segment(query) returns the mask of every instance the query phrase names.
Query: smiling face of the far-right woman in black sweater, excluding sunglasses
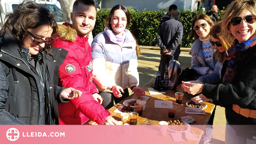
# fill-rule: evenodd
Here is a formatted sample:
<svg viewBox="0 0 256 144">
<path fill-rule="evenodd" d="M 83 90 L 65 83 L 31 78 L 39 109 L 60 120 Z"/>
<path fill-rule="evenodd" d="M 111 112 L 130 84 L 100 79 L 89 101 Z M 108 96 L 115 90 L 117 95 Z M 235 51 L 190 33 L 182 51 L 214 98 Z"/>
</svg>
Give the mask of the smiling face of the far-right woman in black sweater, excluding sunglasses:
<svg viewBox="0 0 256 144">
<path fill-rule="evenodd" d="M 243 12 L 239 16 L 246 15 L 252 15 L 252 13 L 250 13 L 248 10 L 243 10 Z M 247 41 L 253 34 L 255 34 L 256 22 L 250 24 L 245 22 L 243 19 L 239 25 L 230 25 L 229 28 L 232 35 L 239 41 L 239 43 L 241 43 Z"/>
</svg>

